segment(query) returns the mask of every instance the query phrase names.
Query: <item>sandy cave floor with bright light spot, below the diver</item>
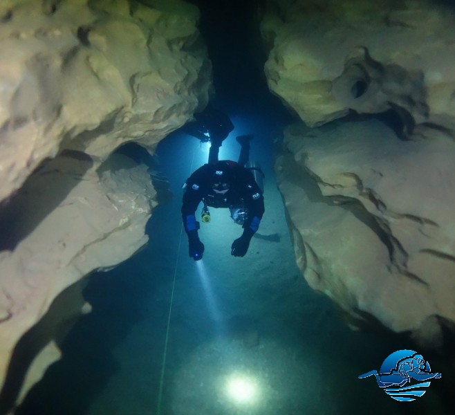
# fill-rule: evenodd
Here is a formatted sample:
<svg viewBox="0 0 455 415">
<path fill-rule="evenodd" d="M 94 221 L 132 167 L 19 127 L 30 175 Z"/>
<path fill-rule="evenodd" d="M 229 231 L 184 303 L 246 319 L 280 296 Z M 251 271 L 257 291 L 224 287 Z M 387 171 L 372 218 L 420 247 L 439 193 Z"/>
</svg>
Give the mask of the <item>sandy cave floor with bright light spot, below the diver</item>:
<svg viewBox="0 0 455 415">
<path fill-rule="evenodd" d="M 310 290 L 295 265 L 275 183 L 266 183 L 265 195 L 262 238 L 252 240 L 244 258 L 229 255 L 230 243 L 241 229 L 225 210 L 212 210 L 212 222 L 201 224 L 209 287 L 205 289 L 200 264 L 187 256 L 185 234 L 176 259 L 180 226 L 159 217 L 173 210 L 178 215 L 180 202 L 172 202 L 166 212 L 156 212 L 159 232 L 169 235 L 169 243 L 163 248 L 160 238 L 152 236 L 147 250 L 161 250 L 153 262 L 160 261 L 163 284 L 149 302 L 145 318 L 113 352 L 120 369 L 94 400 L 90 415 L 425 412 L 423 403 L 411 412 L 410 407 L 400 407 L 374 378 L 358 379 L 366 371 L 379 369 L 400 346 L 351 331 L 331 302 Z M 147 264 L 141 266 L 147 275 Z M 207 290 L 212 297 L 207 297 Z M 230 396 L 228 382 L 234 375 L 253 383 L 251 402 L 239 403 Z M 425 398 L 427 405 L 436 400 Z"/>
</svg>

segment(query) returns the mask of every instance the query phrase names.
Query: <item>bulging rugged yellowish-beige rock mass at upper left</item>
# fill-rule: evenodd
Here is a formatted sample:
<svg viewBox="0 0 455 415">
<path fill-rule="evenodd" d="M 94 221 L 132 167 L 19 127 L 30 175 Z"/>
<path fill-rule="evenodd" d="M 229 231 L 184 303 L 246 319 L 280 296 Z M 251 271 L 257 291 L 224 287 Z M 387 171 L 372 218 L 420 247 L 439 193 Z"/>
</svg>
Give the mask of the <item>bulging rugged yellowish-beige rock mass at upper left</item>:
<svg viewBox="0 0 455 415">
<path fill-rule="evenodd" d="M 105 160 L 156 143 L 207 104 L 198 10 L 180 1 L 0 4 L 0 201 L 62 149 Z"/>
</svg>

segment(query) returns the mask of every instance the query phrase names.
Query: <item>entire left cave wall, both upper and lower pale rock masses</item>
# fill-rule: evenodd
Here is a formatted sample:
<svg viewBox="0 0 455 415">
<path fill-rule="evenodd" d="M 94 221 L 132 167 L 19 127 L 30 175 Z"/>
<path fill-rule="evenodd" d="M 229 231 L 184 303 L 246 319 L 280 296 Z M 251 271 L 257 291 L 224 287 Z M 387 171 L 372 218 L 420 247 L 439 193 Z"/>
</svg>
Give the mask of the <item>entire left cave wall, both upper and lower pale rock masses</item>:
<svg viewBox="0 0 455 415">
<path fill-rule="evenodd" d="M 0 3 L 1 413 L 89 311 L 82 279 L 147 243 L 156 191 L 145 165 L 113 151 L 133 141 L 153 154 L 207 104 L 198 19 L 178 0 Z"/>
</svg>

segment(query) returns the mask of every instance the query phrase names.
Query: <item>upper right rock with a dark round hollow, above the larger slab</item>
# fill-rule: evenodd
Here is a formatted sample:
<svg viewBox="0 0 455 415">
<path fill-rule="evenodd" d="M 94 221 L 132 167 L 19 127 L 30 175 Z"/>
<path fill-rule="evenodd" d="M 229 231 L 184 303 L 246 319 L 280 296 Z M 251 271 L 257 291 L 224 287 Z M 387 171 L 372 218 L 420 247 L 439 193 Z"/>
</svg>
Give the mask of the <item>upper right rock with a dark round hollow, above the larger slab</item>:
<svg viewBox="0 0 455 415">
<path fill-rule="evenodd" d="M 267 3 L 274 93 L 308 126 L 396 111 L 408 138 L 455 136 L 455 10 L 430 0 Z"/>
</svg>

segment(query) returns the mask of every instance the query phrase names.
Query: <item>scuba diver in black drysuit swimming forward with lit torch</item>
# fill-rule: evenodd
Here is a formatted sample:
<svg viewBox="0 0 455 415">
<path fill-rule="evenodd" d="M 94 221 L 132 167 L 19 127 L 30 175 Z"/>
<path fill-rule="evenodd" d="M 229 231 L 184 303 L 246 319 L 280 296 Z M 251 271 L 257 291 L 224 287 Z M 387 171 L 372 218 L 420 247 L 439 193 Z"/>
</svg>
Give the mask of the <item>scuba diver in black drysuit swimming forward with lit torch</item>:
<svg viewBox="0 0 455 415">
<path fill-rule="evenodd" d="M 187 178 L 184 185 L 183 225 L 188 236 L 188 254 L 194 261 L 202 259 L 205 248 L 198 237 L 199 222 L 196 221 L 195 215 L 201 201 L 203 202 L 201 214 L 203 222 L 210 221 L 210 212 L 207 208 L 210 206 L 212 208 L 228 208 L 234 222 L 242 225 L 241 237 L 232 242 L 231 255 L 234 257 L 245 256 L 265 211 L 263 190 L 260 186 L 262 172 L 257 167 L 245 167 L 248 163 L 250 140 L 253 136 L 248 134 L 236 137 L 237 142 L 241 145 L 237 163 L 232 160 L 218 160 L 221 142 L 234 127 L 228 116 L 225 116 L 221 111 L 217 111 L 216 114 L 212 110 L 210 109 L 210 118 L 199 118 L 199 120 L 203 120 L 201 125 L 196 126 L 192 122 L 191 129 L 184 130 L 199 138 L 196 134 L 188 131 L 200 132 L 207 129 L 207 131 L 202 132 L 203 138 L 199 139 L 205 140 L 205 138 L 210 137 L 211 142 L 209 163 L 199 167 Z M 210 119 L 211 123 L 207 123 L 207 119 Z M 212 147 L 214 147 L 214 151 L 212 151 Z"/>
</svg>

